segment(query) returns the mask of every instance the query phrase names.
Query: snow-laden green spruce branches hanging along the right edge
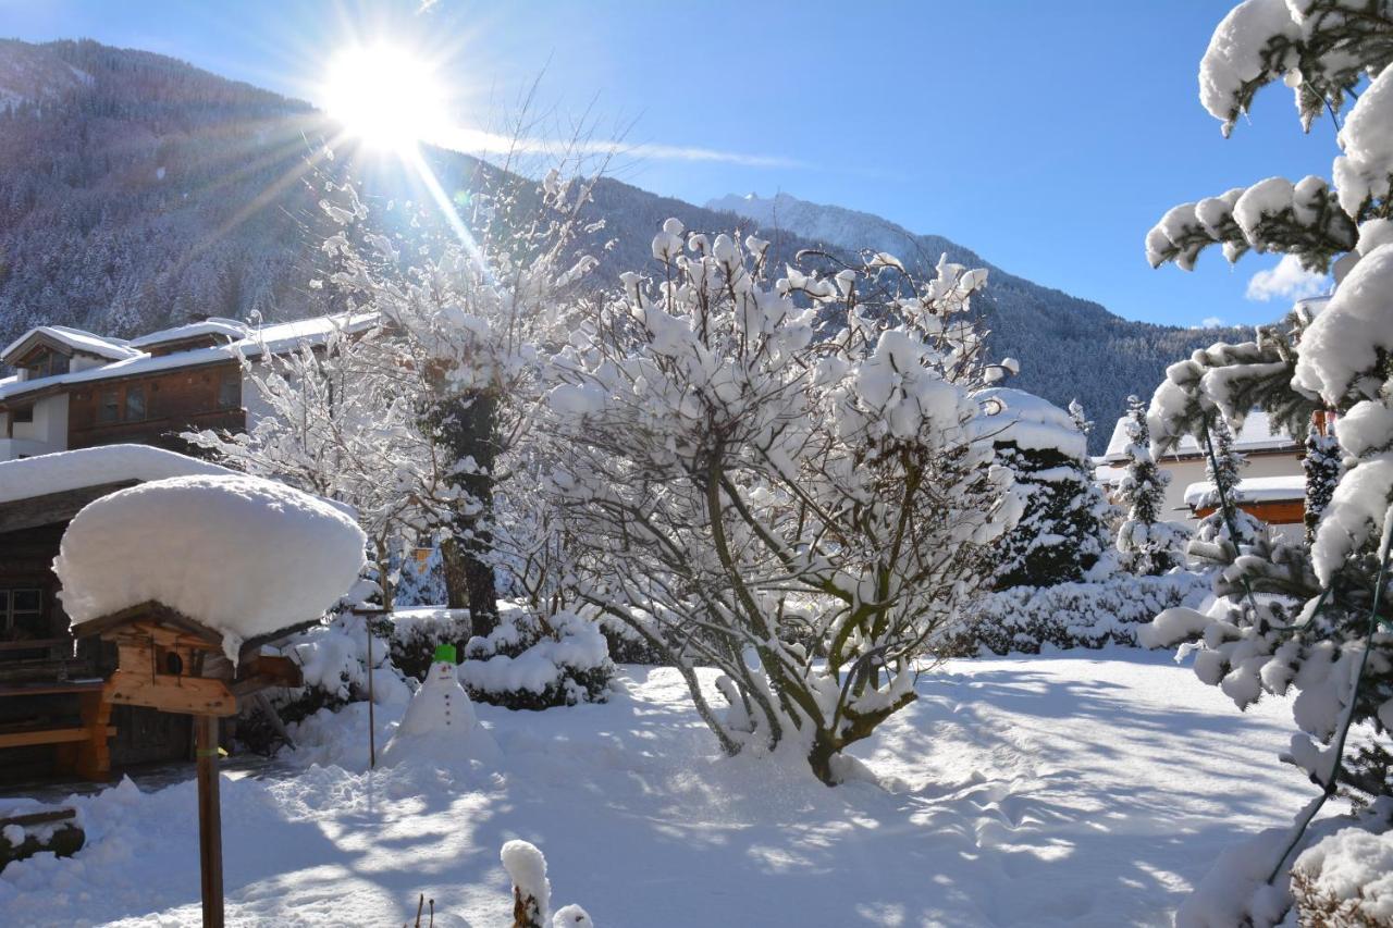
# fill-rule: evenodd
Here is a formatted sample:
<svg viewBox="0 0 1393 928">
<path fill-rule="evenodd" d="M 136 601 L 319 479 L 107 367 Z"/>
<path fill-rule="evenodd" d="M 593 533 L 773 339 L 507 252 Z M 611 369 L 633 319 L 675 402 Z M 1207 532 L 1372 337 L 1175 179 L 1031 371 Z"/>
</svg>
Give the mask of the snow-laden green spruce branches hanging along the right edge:
<svg viewBox="0 0 1393 928">
<path fill-rule="evenodd" d="M 1333 295 L 1298 305 L 1266 344 L 1259 339 L 1251 350 L 1229 351 L 1227 361 L 1197 353 L 1173 365 L 1152 403 L 1153 429 L 1159 424 L 1163 432 L 1185 431 L 1197 415 L 1212 418 L 1215 411 L 1236 425 L 1247 412 L 1240 405 L 1254 401 L 1287 410 L 1279 418 L 1294 438 L 1307 435 L 1312 412 L 1339 415 L 1334 435 L 1346 470 L 1329 499 L 1315 500 L 1321 510 L 1309 553 L 1276 539 L 1226 550 L 1215 587 L 1224 599 L 1209 613 L 1166 610 L 1152 626 L 1156 644 L 1198 642 L 1197 673 L 1240 706 L 1263 693 L 1298 691 L 1293 716 L 1301 732 L 1286 759 L 1322 789 L 1298 821 L 1298 835 L 1336 789 L 1362 798 L 1393 794 L 1393 635 L 1379 630 L 1390 613 L 1376 555 L 1393 531 L 1390 61 L 1387 0 L 1245 0 L 1234 7 L 1201 63 L 1201 100 L 1227 132 L 1254 95 L 1282 78 L 1295 92 L 1304 128 L 1321 111 L 1336 123 L 1333 184 L 1269 178 L 1176 208 L 1146 238 L 1148 258 L 1158 265 L 1191 266 L 1208 238 L 1223 241 L 1230 261 L 1248 249 L 1279 251 L 1334 274 Z M 1329 461 L 1316 464 L 1330 470 Z M 1329 474 L 1312 471 L 1312 479 L 1319 485 Z M 1346 757 L 1351 725 L 1367 740 Z M 1273 875 L 1289 864 L 1277 861 Z M 1245 908 L 1247 917 L 1254 913 Z"/>
</svg>

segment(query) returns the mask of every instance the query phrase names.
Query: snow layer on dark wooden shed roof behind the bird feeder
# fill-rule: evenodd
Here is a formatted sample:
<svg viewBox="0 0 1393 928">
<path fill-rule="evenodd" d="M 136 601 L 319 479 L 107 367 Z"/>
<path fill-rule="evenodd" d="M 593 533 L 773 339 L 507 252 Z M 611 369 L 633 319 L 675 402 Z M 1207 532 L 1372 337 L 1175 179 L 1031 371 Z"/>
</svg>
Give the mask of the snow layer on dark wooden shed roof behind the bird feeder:
<svg viewBox="0 0 1393 928">
<path fill-rule="evenodd" d="M 123 481 L 233 471 L 148 444 L 107 444 L 0 463 L 0 503 Z"/>
</svg>

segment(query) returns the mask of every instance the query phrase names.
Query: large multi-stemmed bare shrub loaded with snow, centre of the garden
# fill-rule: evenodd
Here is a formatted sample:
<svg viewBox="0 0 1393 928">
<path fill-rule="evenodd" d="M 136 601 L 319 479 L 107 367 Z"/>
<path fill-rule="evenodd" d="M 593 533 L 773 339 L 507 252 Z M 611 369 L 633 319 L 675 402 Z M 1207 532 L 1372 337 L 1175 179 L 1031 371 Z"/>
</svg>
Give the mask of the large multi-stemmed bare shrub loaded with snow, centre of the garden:
<svg viewBox="0 0 1393 928">
<path fill-rule="evenodd" d="M 579 598 L 681 670 L 722 748 L 798 752 L 834 783 L 915 698 L 1020 500 L 971 425 L 1000 373 L 964 312 L 985 270 L 944 259 L 921 283 L 873 255 L 769 280 L 766 248 L 663 224 L 657 280 L 624 274 L 554 359 L 545 489 Z M 790 601 L 815 649 L 780 638 Z"/>
</svg>

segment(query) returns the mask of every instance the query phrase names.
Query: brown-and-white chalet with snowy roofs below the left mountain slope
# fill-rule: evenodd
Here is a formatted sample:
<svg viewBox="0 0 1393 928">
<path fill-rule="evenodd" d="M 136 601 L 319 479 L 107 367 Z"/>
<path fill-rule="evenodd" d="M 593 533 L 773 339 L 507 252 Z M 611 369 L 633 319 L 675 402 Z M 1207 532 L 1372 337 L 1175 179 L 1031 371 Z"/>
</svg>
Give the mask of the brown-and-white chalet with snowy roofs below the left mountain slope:
<svg viewBox="0 0 1393 928">
<path fill-rule="evenodd" d="M 39 326 L 0 351 L 0 461 L 99 444 L 187 450 L 189 429 L 244 431 L 256 397 L 242 358 L 322 344 L 371 315 L 319 316 L 256 329 L 205 319 L 134 340 Z"/>
</svg>

